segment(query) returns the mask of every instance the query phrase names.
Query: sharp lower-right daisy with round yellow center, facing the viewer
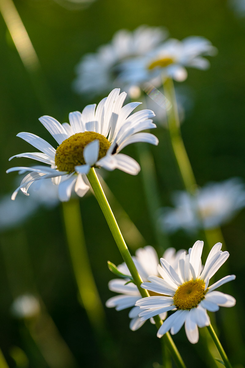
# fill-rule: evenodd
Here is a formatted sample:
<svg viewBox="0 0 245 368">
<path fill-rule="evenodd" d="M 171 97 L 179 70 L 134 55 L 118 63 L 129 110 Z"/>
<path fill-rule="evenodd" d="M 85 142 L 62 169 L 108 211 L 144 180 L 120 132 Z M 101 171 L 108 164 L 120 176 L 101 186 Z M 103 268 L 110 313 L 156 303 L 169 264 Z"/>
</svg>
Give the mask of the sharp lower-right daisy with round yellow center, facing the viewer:
<svg viewBox="0 0 245 368">
<path fill-rule="evenodd" d="M 140 299 L 136 306 L 142 312 L 140 321 L 144 322 L 159 313 L 177 311 L 170 315 L 159 328 L 157 336 L 162 337 L 170 330 L 172 335 L 179 332 L 185 324 L 188 340 L 198 342 L 198 327 L 209 326 L 210 319 L 207 310 L 216 312 L 219 307 L 233 307 L 235 299 L 227 294 L 215 291 L 217 287 L 234 280 L 235 275 L 225 276 L 223 279 L 209 286 L 209 280 L 217 272 L 229 256 L 228 252 L 221 251 L 221 243 L 213 246 L 201 272 L 201 255 L 203 241 L 196 241 L 188 254 L 183 253 L 179 258 L 177 271 L 172 268 L 166 259 L 161 258 L 158 272 L 161 277 L 152 282 L 145 282 L 141 287 L 164 296 L 152 296 Z"/>
</svg>

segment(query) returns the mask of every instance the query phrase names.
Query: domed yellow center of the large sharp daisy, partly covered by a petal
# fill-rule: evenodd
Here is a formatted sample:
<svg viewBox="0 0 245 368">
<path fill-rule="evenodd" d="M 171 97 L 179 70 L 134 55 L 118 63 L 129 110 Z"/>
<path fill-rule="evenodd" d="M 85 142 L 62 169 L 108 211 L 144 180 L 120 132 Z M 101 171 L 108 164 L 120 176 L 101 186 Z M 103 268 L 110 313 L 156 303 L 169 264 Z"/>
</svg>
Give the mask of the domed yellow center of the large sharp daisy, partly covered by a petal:
<svg viewBox="0 0 245 368">
<path fill-rule="evenodd" d="M 65 139 L 58 146 L 55 153 L 55 165 L 57 166 L 57 169 L 72 173 L 75 171 L 76 165 L 84 165 L 84 147 L 95 139 L 98 139 L 100 142 L 98 160 L 104 157 L 110 146 L 110 142 L 104 137 L 104 135 L 96 132 L 76 133 Z"/>
</svg>

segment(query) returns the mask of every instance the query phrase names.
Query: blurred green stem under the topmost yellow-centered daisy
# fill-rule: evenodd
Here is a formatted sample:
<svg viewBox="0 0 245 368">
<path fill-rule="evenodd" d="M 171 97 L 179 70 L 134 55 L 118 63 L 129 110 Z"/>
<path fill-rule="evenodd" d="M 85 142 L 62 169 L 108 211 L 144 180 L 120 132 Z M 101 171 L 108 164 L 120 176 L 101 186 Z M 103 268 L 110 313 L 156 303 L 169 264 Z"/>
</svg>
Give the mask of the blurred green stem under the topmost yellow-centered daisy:
<svg viewBox="0 0 245 368">
<path fill-rule="evenodd" d="M 195 193 L 197 183 L 192 171 L 191 163 L 185 150 L 184 142 L 181 137 L 180 120 L 178 107 L 174 91 L 174 84 L 171 78 L 167 78 L 163 82 L 163 89 L 166 98 L 171 102 L 172 106 L 167 110 L 167 119 L 169 124 L 169 134 L 171 143 L 176 157 L 184 186 L 191 194 Z"/>
</svg>

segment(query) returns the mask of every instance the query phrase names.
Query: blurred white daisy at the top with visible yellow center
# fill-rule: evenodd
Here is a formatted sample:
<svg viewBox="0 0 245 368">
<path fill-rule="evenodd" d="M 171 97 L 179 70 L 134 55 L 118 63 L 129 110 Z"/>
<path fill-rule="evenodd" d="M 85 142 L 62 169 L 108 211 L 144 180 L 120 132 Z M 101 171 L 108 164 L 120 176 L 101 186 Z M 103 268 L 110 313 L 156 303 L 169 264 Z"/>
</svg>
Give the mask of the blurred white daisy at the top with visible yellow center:
<svg viewBox="0 0 245 368">
<path fill-rule="evenodd" d="M 182 41 L 169 39 L 147 55 L 126 60 L 121 66 L 119 80 L 143 88 L 148 82 L 157 87 L 168 77 L 183 82 L 187 78 L 185 67 L 207 69 L 210 64 L 203 56 L 216 52 L 204 37 L 190 36 Z"/>
</svg>

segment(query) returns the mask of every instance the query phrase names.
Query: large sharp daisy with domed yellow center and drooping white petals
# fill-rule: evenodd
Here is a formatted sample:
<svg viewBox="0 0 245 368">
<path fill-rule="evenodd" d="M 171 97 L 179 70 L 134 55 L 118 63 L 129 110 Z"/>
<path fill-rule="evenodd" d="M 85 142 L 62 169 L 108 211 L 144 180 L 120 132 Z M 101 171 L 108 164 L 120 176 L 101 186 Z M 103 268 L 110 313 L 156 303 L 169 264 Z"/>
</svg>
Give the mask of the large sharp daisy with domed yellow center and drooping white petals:
<svg viewBox="0 0 245 368">
<path fill-rule="evenodd" d="M 49 164 L 50 166 L 12 167 L 7 173 L 30 171 L 21 185 L 12 194 L 15 199 L 21 190 L 28 194 L 29 186 L 40 178 L 53 178 L 58 184 L 58 196 L 61 201 L 68 201 L 75 187 L 76 194 L 83 197 L 89 190 L 84 183 L 83 174 L 89 173 L 91 167 L 103 167 L 112 171 L 120 169 L 136 175 L 140 171 L 139 164 L 131 157 L 119 153 L 125 146 L 135 142 L 158 144 L 158 139 L 150 133 L 140 131 L 155 128 L 151 110 L 141 110 L 132 115 L 131 112 L 140 102 L 128 103 L 123 106 L 126 93 L 114 89 L 107 98 L 96 104 L 86 106 L 82 113 L 75 111 L 69 114 L 69 122 L 60 124 L 51 116 L 40 117 L 40 122 L 58 143 L 53 148 L 44 139 L 32 133 L 17 134 L 41 152 L 26 152 L 14 157 L 26 157 Z M 130 115 L 130 116 L 129 116 Z"/>
</svg>

